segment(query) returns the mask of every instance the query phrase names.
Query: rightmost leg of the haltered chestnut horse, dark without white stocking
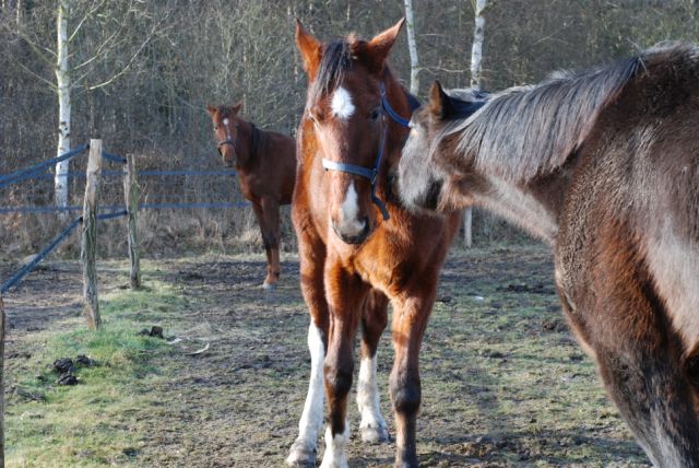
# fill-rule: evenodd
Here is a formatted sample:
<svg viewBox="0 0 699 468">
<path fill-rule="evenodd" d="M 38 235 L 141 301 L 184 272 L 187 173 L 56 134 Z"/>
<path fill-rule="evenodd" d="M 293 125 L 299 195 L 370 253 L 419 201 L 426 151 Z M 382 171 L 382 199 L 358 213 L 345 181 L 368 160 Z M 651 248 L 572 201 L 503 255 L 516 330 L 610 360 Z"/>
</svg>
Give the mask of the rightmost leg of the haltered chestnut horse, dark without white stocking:
<svg viewBox="0 0 699 468">
<path fill-rule="evenodd" d="M 429 284 L 429 281 L 426 283 Z M 415 430 L 422 396 L 419 349 L 434 301 L 435 288 L 407 294 L 393 303 L 395 358 L 390 390 L 396 426 L 395 466 L 401 468 L 418 466 Z"/>
</svg>

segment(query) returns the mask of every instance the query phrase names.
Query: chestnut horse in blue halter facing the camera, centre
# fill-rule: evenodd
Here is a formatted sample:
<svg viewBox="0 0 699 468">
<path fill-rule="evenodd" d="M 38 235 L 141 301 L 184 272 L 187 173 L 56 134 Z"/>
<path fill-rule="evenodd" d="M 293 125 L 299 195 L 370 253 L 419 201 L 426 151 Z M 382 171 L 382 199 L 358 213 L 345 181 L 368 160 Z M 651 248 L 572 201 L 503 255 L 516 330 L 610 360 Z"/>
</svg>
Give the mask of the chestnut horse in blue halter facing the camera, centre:
<svg viewBox="0 0 699 468">
<path fill-rule="evenodd" d="M 402 24 L 371 40 L 348 36 L 330 44 L 297 25 L 296 39 L 310 84 L 298 131 L 292 217 L 301 290 L 311 316 L 312 371 L 300 434 L 287 459 L 292 465 L 315 463 L 324 376 L 330 416 L 322 466 L 346 466 L 347 394 L 359 326 L 362 436 L 387 438 L 376 390 L 376 349 L 387 325 L 389 301 L 395 348 L 390 394 L 396 419 L 396 465 L 417 465 L 418 352 L 459 215 L 414 215 L 390 189 L 388 168 L 398 164 L 407 134 L 401 124 L 407 125 L 403 117 L 416 104 L 386 63 Z"/>
</svg>

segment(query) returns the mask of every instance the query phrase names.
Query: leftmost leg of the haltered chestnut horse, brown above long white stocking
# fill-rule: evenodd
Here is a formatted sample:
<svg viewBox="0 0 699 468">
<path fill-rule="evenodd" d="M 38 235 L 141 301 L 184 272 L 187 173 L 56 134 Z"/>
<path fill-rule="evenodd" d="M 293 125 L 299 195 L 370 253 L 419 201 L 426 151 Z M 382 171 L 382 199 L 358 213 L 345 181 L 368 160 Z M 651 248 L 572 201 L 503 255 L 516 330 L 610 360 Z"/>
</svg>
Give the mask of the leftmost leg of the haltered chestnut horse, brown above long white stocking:
<svg viewBox="0 0 699 468">
<path fill-rule="evenodd" d="M 318 434 L 323 423 L 323 359 L 328 337 L 328 304 L 323 286 L 324 246 L 309 233 L 299 235 L 300 283 L 310 314 L 308 349 L 310 381 L 304 412 L 298 421 L 298 437 L 289 449 L 286 463 L 296 467 L 315 467 Z"/>
</svg>

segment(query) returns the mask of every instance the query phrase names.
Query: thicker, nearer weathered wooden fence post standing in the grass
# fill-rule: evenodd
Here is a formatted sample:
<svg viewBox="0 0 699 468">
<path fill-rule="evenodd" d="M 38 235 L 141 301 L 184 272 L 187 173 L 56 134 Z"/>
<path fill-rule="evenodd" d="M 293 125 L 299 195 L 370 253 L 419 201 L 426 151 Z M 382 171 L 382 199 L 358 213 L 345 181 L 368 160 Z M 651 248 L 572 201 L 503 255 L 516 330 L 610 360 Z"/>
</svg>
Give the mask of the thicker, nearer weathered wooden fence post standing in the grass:
<svg viewBox="0 0 699 468">
<path fill-rule="evenodd" d="M 97 303 L 97 203 L 99 201 L 99 178 L 102 176 L 102 140 L 90 140 L 87 160 L 87 183 L 83 203 L 83 231 L 80 260 L 83 267 L 83 293 L 85 295 L 85 320 L 87 328 L 99 328 L 99 305 Z"/>
</svg>

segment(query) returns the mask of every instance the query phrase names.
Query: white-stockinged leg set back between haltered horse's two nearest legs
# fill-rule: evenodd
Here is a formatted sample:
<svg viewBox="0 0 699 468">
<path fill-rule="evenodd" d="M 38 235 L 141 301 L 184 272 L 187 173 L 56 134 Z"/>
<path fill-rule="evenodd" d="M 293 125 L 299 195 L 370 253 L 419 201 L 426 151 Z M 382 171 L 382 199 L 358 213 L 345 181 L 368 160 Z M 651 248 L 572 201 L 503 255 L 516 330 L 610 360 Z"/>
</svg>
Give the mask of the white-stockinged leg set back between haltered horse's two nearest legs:
<svg viewBox="0 0 699 468">
<path fill-rule="evenodd" d="M 362 414 L 362 440 L 369 443 L 387 442 L 389 432 L 381 416 L 379 389 L 376 379 L 377 349 L 388 321 L 388 299 L 374 290 L 367 297 L 362 317 L 362 362 L 357 383 L 357 407 Z"/>
</svg>

